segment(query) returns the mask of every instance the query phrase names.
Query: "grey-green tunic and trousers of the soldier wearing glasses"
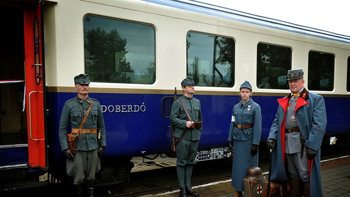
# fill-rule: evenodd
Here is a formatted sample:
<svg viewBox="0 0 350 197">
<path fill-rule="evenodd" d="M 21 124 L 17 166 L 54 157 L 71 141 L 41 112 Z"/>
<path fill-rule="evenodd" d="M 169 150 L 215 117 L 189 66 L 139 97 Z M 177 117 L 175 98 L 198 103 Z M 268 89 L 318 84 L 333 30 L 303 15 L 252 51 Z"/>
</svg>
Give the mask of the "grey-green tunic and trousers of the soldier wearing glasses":
<svg viewBox="0 0 350 197">
<path fill-rule="evenodd" d="M 181 97 L 193 122 L 202 122 L 201 102 L 197 98 Z M 202 128 L 186 128 L 189 121 L 180 100 L 175 100 L 170 113 L 170 121 L 175 126 L 175 142 L 186 129 L 182 140 L 176 145 L 177 177 L 180 187 L 190 186 L 192 166 L 197 155 L 198 140 L 201 138 Z M 203 125 L 202 125 L 203 127 Z"/>
</svg>

